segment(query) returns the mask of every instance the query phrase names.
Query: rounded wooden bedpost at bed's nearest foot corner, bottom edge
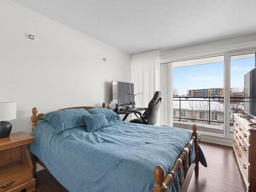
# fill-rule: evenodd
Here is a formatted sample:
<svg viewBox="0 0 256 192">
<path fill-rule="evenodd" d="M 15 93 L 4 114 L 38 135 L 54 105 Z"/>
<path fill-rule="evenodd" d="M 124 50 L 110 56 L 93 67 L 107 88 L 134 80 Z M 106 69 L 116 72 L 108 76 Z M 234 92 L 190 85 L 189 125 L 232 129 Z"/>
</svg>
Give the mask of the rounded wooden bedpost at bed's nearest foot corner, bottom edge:
<svg viewBox="0 0 256 192">
<path fill-rule="evenodd" d="M 161 165 L 157 165 L 154 169 L 154 184 L 153 192 L 167 192 L 167 187 L 164 184 L 164 170 Z"/>
</svg>

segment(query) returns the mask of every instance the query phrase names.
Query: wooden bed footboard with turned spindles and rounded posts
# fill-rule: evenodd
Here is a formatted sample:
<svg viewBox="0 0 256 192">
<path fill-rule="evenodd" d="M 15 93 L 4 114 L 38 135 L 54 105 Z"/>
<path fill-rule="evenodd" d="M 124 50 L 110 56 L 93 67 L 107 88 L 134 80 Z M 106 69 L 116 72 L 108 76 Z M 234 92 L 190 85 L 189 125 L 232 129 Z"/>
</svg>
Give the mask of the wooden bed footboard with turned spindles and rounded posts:
<svg viewBox="0 0 256 192">
<path fill-rule="evenodd" d="M 175 161 L 172 170 L 166 176 L 164 175 L 164 170 L 161 165 L 157 165 L 154 169 L 154 178 L 155 184 L 153 188 L 153 192 L 167 192 L 167 187 L 170 183 L 173 182 L 175 172 L 178 171 L 178 178 L 181 191 L 186 191 L 191 176 L 193 174 L 193 169 L 195 167 L 195 175 L 198 176 L 199 174 L 199 152 L 198 152 L 198 142 L 197 142 L 197 126 L 194 124 L 192 126 L 193 129 L 193 136 L 191 140 L 187 143 L 185 148 L 183 148 L 181 154 L 179 155 L 178 159 Z M 191 161 L 190 156 L 190 148 L 195 143 L 195 152 L 196 152 L 196 159 L 194 162 Z M 189 169 L 187 167 L 187 158 L 189 162 Z M 184 181 L 181 182 L 181 165 L 184 167 Z M 191 169 L 192 168 L 192 169 Z"/>
</svg>

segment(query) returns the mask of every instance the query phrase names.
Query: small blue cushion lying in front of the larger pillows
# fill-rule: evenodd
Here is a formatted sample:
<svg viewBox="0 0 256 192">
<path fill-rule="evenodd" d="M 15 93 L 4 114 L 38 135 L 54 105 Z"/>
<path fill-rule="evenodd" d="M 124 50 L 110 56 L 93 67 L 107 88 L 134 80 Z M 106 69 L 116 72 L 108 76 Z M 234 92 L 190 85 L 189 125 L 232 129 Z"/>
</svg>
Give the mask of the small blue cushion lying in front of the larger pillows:
<svg viewBox="0 0 256 192">
<path fill-rule="evenodd" d="M 84 123 L 86 123 L 87 132 L 94 132 L 103 127 L 108 127 L 109 123 L 106 116 L 102 113 L 94 115 L 83 115 Z"/>
</svg>

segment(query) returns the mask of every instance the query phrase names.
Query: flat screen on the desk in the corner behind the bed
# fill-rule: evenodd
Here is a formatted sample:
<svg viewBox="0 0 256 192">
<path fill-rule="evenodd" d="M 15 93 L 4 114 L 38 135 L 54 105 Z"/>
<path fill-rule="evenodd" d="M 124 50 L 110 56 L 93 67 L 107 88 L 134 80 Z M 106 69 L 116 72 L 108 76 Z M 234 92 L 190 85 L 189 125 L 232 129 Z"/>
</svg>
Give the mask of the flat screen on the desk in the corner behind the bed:
<svg viewBox="0 0 256 192">
<path fill-rule="evenodd" d="M 117 104 L 134 102 L 134 84 L 129 82 L 112 81 L 112 99 Z"/>
</svg>

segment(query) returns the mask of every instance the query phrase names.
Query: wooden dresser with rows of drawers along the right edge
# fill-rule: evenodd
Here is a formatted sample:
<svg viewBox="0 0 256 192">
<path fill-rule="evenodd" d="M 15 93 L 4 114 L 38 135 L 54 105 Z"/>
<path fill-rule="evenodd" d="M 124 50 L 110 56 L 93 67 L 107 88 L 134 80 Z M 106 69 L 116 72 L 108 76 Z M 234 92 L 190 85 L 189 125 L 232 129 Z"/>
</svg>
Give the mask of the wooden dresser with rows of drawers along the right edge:
<svg viewBox="0 0 256 192">
<path fill-rule="evenodd" d="M 241 118 L 233 114 L 233 150 L 239 169 L 249 192 L 256 191 L 256 126 L 251 118 Z"/>
</svg>

